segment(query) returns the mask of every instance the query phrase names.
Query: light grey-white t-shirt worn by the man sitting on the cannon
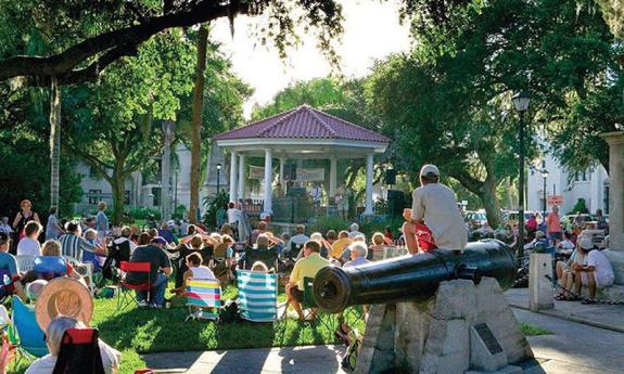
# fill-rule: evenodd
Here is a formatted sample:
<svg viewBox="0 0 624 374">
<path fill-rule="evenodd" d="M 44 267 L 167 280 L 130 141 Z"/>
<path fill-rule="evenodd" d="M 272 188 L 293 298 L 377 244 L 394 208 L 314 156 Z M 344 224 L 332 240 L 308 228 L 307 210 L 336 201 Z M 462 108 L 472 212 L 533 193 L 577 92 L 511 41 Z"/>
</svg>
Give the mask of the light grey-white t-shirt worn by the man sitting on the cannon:
<svg viewBox="0 0 624 374">
<path fill-rule="evenodd" d="M 438 248 L 463 250 L 466 224 L 455 192 L 441 183 L 429 183 L 412 193 L 411 218 L 424 220 Z"/>
</svg>

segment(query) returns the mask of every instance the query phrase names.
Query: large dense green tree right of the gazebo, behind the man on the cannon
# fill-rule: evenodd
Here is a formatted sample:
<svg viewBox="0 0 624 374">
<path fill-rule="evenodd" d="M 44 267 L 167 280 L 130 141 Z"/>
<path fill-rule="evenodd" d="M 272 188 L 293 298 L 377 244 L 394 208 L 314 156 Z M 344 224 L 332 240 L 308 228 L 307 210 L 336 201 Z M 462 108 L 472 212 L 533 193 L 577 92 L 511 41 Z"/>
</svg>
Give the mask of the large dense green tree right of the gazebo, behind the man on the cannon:
<svg viewBox="0 0 624 374">
<path fill-rule="evenodd" d="M 495 225 L 498 181 L 518 172 L 511 94 L 533 96 L 531 159 L 538 129 L 570 126 L 571 99 L 611 85 L 620 47 L 600 14 L 574 0 L 415 0 L 410 12 L 415 49 L 378 66 L 371 105 L 400 134 L 404 166 L 441 164 L 480 196 Z"/>
</svg>

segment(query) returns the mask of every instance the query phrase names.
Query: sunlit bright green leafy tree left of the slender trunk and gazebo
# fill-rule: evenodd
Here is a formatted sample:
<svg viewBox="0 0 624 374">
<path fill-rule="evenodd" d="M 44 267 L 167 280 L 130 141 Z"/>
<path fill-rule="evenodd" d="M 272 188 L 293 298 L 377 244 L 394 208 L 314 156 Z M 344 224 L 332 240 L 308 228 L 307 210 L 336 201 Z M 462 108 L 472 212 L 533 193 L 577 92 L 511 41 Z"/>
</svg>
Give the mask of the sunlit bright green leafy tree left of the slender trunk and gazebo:
<svg viewBox="0 0 624 374">
<path fill-rule="evenodd" d="M 126 179 L 162 151 L 160 120 L 175 120 L 191 91 L 192 44 L 180 30 L 145 43 L 136 59 L 117 62 L 99 83 L 73 88 L 65 105 L 69 152 L 111 183 L 119 222 Z"/>
</svg>

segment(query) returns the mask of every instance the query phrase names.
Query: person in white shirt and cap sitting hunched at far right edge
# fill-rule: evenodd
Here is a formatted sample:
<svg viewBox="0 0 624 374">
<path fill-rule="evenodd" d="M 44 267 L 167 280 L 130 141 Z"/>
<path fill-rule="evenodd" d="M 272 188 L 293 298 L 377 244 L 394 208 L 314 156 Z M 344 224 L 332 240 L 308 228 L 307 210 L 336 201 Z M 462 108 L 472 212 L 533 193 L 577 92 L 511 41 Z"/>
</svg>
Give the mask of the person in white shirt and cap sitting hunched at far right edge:
<svg viewBox="0 0 624 374">
<path fill-rule="evenodd" d="M 583 245 L 578 248 L 581 254 L 587 256 L 587 265 L 577 265 L 574 269 L 576 271 L 574 279 L 576 295 L 581 295 L 581 286 L 585 285 L 589 288 L 589 300 L 583 304 L 596 304 L 596 289 L 612 286 L 615 274 L 602 250 L 586 249 Z"/>
</svg>

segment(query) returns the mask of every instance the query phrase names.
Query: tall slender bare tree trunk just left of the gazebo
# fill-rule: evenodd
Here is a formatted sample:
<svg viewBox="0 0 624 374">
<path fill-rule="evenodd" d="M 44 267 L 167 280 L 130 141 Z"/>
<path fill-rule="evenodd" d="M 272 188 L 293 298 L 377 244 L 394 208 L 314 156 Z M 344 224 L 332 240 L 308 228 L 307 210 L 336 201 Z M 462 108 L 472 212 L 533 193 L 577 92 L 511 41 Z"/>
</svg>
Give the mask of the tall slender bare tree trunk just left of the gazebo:
<svg viewBox="0 0 624 374">
<path fill-rule="evenodd" d="M 206 69 L 206 47 L 208 29 L 200 27 L 198 36 L 198 66 L 195 68 L 195 87 L 193 89 L 193 117 L 191 120 L 191 206 L 189 219 L 196 223 L 200 209 L 200 167 L 202 163 L 202 112 L 204 108 L 204 72 Z"/>
</svg>

